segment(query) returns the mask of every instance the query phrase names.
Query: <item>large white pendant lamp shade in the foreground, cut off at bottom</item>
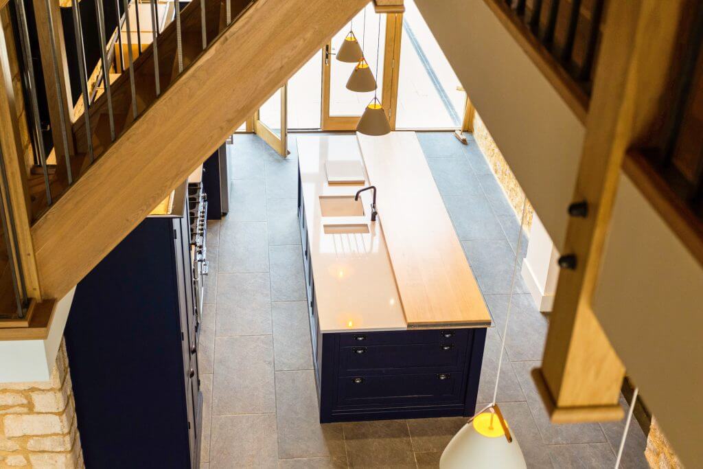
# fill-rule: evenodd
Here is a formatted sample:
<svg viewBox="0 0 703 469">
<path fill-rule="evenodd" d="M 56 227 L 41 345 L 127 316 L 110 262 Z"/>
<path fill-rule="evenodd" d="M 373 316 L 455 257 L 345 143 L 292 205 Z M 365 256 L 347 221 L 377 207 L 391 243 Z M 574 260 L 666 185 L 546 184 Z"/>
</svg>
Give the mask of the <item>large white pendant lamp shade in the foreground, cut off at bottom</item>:
<svg viewBox="0 0 703 469">
<path fill-rule="evenodd" d="M 506 430 L 508 424 L 500 411 L 479 413 L 451 439 L 439 459 L 439 468 L 527 468 L 520 444 L 510 430 Z"/>
</svg>

